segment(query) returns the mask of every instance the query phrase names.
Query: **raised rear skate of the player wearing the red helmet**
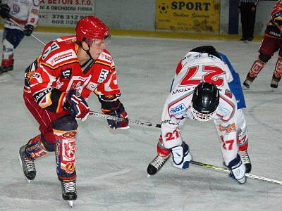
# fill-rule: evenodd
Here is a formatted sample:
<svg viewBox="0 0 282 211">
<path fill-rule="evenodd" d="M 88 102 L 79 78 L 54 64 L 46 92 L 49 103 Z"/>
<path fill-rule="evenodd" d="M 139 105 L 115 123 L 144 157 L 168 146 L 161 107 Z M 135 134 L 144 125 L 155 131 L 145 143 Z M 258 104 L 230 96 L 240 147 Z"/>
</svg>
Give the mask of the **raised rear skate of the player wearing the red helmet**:
<svg viewBox="0 0 282 211">
<path fill-rule="evenodd" d="M 30 183 L 30 180 L 35 179 L 36 176 L 35 160 L 28 155 L 25 155 L 25 147 L 26 145 L 20 147 L 20 150 L 18 151 L 18 159 L 20 160 L 23 174 L 25 174 L 25 179 Z"/>
</svg>

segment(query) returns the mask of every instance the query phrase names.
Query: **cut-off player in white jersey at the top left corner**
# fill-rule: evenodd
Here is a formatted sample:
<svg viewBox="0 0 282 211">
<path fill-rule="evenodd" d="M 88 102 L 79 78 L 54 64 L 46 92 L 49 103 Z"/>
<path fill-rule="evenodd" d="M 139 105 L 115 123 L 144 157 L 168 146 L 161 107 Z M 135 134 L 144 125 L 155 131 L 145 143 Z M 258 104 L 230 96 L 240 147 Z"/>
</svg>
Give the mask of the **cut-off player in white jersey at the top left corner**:
<svg viewBox="0 0 282 211">
<path fill-rule="evenodd" d="M 20 44 L 24 36 L 32 34 L 38 21 L 39 0 L 7 0 L 4 4 L 0 4 L 0 15 L 6 19 L 3 32 L 1 74 L 13 70 L 14 49 Z"/>
</svg>

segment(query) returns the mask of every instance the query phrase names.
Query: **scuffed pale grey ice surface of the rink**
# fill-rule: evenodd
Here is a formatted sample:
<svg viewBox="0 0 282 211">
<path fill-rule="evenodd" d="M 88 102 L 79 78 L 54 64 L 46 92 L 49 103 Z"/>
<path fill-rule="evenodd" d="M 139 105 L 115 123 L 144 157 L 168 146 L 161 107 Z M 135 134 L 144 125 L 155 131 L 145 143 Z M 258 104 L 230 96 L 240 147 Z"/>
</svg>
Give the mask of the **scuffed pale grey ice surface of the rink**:
<svg viewBox="0 0 282 211">
<path fill-rule="evenodd" d="M 66 34 L 35 33 L 47 43 Z M 200 45 L 214 45 L 228 56 L 245 79 L 257 57 L 259 42 L 204 41 L 113 37 L 109 51 L 118 69 L 121 101 L 133 120 L 159 122 L 178 60 Z M 25 37 L 15 53 L 15 70 L 0 76 L 0 210 L 70 210 L 61 198 L 55 155 L 35 162 L 37 177 L 27 184 L 17 151 L 38 134 L 23 103 L 25 68 L 42 51 Z M 282 179 L 281 86 L 269 87 L 277 54 L 245 91 L 245 116 L 250 132 L 252 174 Z M 100 111 L 96 96 L 89 100 Z M 79 122 L 77 143 L 78 200 L 72 210 L 282 210 L 282 186 L 248 179 L 240 185 L 227 174 L 192 165 L 178 170 L 169 162 L 147 179 L 147 165 L 156 155 L 159 129 L 132 125 L 110 130 L 106 120 Z M 220 142 L 213 122 L 186 121 L 181 130 L 194 160 L 221 165 Z"/>
</svg>

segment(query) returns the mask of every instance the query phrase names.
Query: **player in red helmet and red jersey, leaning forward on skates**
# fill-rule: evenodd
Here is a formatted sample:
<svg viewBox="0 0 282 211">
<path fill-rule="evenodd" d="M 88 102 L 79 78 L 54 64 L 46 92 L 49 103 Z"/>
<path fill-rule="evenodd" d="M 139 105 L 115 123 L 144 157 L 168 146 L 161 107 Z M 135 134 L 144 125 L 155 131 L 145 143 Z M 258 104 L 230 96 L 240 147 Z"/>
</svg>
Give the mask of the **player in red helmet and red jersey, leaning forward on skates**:
<svg viewBox="0 0 282 211">
<path fill-rule="evenodd" d="M 118 97 L 116 67 L 106 41 L 109 28 L 95 16 L 82 18 L 75 27 L 76 36 L 50 41 L 25 70 L 23 98 L 39 123 L 40 134 L 19 150 L 27 180 L 35 179 L 37 158 L 55 151 L 56 170 L 63 199 L 75 200 L 75 144 L 78 124 L 90 112 L 87 98 L 94 93 L 102 112 L 122 117 L 108 120 L 112 129 L 128 128 L 128 114 Z"/>
</svg>

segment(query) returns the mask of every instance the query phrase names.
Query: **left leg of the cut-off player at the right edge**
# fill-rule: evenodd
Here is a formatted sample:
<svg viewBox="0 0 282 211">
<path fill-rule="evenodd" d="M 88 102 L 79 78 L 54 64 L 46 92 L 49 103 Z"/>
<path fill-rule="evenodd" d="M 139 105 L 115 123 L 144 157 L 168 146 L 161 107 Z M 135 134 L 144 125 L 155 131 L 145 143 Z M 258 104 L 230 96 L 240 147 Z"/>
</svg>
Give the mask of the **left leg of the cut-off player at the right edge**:
<svg viewBox="0 0 282 211">
<path fill-rule="evenodd" d="M 244 88 L 250 89 L 250 84 L 254 82 L 259 72 L 262 70 L 262 68 L 264 68 L 264 65 L 266 65 L 266 63 L 276 51 L 278 51 L 276 39 L 271 37 L 264 37 L 262 45 L 259 48 L 260 54 L 257 60 L 255 60 L 255 62 L 252 64 L 252 67 L 250 68 L 250 71 L 247 73 L 247 77 L 243 82 Z"/>
</svg>

